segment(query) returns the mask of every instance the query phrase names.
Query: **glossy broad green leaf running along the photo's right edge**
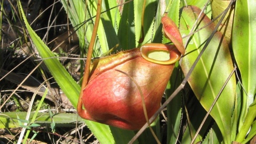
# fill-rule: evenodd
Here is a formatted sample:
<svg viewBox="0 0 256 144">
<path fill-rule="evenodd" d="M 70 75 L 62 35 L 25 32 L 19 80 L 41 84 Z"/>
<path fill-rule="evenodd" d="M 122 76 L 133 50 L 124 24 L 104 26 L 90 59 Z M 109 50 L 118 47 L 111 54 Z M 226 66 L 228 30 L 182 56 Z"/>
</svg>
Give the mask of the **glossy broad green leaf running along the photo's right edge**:
<svg viewBox="0 0 256 144">
<path fill-rule="evenodd" d="M 244 88 L 243 97 L 241 100 L 242 111 L 239 119 L 239 134 L 237 135 L 237 142 L 241 142 L 249 130 L 250 126 L 244 126 L 245 122 L 252 123 L 252 120 L 255 118 L 253 117 L 254 114 L 249 115 L 248 111 L 251 103 L 255 101 L 256 93 L 255 6 L 255 1 L 237 0 L 235 7 L 232 45 L 237 66 L 241 72 L 242 85 Z M 254 113 L 256 113 L 255 109 L 252 110 L 254 110 Z M 251 123 L 249 125 L 251 125 Z"/>
</svg>

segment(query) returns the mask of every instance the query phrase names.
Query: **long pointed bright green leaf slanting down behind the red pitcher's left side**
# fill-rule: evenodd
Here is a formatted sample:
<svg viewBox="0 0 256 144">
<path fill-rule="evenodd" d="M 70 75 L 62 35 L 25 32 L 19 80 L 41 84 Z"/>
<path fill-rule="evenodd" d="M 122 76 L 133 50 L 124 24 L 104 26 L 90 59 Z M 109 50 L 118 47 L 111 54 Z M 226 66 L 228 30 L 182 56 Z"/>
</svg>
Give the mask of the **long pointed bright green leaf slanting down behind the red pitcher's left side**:
<svg viewBox="0 0 256 144">
<path fill-rule="evenodd" d="M 23 20 L 25 21 L 26 28 L 28 33 L 37 48 L 39 54 L 42 58 L 51 58 L 54 57 L 54 54 L 49 50 L 49 48 L 43 43 L 43 41 L 36 35 L 35 31 L 29 26 L 29 23 L 25 17 L 25 13 L 22 10 L 20 1 L 19 6 L 21 9 Z M 67 95 L 70 102 L 73 104 L 74 107 L 77 106 L 78 95 L 80 93 L 81 88 L 79 85 L 74 81 L 74 79 L 68 74 L 66 69 L 61 65 L 58 59 L 45 59 L 45 65 L 50 70 L 52 76 L 54 77 L 55 81 L 59 84 L 62 91 Z M 111 135 L 109 126 L 95 123 L 92 121 L 86 121 L 87 126 L 93 132 L 95 137 L 101 142 L 106 143 L 114 143 L 114 139 Z"/>
</svg>

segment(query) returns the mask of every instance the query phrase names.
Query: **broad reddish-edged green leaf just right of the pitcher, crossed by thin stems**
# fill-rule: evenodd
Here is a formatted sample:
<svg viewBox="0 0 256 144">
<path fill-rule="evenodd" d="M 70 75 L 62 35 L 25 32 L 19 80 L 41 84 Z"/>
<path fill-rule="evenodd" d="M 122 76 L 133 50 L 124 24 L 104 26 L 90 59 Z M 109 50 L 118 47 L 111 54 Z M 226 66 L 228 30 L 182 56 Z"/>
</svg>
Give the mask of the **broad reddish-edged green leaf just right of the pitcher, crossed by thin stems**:
<svg viewBox="0 0 256 144">
<path fill-rule="evenodd" d="M 189 34 L 200 12 L 201 10 L 195 6 L 188 6 L 182 9 L 180 19 L 180 32 L 182 36 Z M 210 22 L 211 20 L 202 14 L 195 28 L 197 30 L 209 25 Z M 214 25 L 210 24 L 192 35 L 189 39 L 183 39 L 185 43 L 188 41 L 186 54 L 181 63 L 181 68 L 185 76 L 204 47 L 213 29 Z M 207 45 L 201 59 L 188 79 L 191 89 L 207 111 L 209 111 L 214 99 L 217 97 L 217 94 L 220 92 L 222 85 L 225 84 L 232 70 L 233 62 L 228 45 L 221 33 L 217 32 L 211 39 L 209 45 Z M 236 81 L 233 75 L 210 113 L 218 124 L 225 143 L 231 143 L 231 114 L 234 107 L 235 90 Z"/>
</svg>

